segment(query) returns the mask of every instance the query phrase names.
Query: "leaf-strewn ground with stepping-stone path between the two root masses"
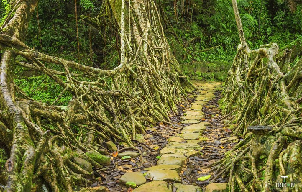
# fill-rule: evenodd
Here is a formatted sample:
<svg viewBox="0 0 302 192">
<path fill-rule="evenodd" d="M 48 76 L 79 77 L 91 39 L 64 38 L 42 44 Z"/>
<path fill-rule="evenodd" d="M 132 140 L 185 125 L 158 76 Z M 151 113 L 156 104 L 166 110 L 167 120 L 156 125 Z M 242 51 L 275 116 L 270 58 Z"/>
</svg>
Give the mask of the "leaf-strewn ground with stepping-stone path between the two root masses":
<svg viewBox="0 0 302 192">
<path fill-rule="evenodd" d="M 117 157 L 111 158 L 109 167 L 95 171 L 99 178 L 92 185 L 123 192 L 133 188 L 135 192 L 202 191 L 209 184 L 209 177 L 213 177 L 203 167 L 222 158 L 242 139 L 231 137 L 231 130 L 218 120 L 221 83 L 193 84 L 198 90 L 187 103 L 180 104 L 177 116 L 170 115 L 171 125 L 147 127 L 145 136 L 133 140 L 143 159 L 139 158 L 139 151 L 120 147 L 118 154 L 112 154 Z M 207 185 L 206 191 L 226 188 L 226 180 L 216 181 L 219 184 Z"/>
</svg>

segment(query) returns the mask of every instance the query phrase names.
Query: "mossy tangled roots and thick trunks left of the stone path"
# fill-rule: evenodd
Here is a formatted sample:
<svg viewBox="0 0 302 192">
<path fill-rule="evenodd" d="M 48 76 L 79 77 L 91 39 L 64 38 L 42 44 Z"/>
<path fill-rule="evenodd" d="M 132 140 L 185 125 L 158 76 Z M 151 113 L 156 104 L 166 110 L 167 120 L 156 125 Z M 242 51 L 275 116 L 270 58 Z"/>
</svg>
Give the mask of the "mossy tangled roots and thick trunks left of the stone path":
<svg viewBox="0 0 302 192">
<path fill-rule="evenodd" d="M 38 1 L 11 1 L 15 12 L 0 34 L 0 142 L 9 157 L 1 170 L 3 190 L 40 191 L 43 183 L 52 191 L 89 186 L 86 179 L 94 175 L 75 164 L 74 157 L 101 168 L 84 152 L 106 154 L 101 144 L 108 140 L 132 146 L 130 139 L 145 133 L 144 125 L 169 123 L 168 112 L 176 113 L 175 103 L 193 89 L 172 55 L 154 1 L 130 2 L 121 1 L 121 14 L 111 7 L 121 29 L 121 63 L 102 70 L 26 46 Z M 48 75 L 62 87 L 59 97 L 48 105 L 27 96 L 14 83 L 15 65 Z M 72 100 L 56 105 L 64 93 Z"/>
</svg>

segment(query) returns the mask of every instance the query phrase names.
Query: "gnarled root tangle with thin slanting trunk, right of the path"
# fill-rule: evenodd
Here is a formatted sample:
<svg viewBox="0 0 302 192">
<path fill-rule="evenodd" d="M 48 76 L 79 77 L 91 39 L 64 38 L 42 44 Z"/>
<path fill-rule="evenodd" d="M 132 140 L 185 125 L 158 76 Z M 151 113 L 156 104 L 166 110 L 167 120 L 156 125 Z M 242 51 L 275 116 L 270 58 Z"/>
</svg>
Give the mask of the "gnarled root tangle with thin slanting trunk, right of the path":
<svg viewBox="0 0 302 192">
<path fill-rule="evenodd" d="M 229 190 L 302 190 L 302 59 L 291 67 L 292 50 L 279 53 L 276 43 L 250 50 L 236 1 L 233 1 L 241 44 L 223 90 L 223 117 L 233 134 L 245 139 L 223 159 L 207 167 L 211 182 L 229 177 Z M 261 126 L 259 126 L 261 125 Z M 278 188 L 281 176 L 295 187 Z"/>
</svg>

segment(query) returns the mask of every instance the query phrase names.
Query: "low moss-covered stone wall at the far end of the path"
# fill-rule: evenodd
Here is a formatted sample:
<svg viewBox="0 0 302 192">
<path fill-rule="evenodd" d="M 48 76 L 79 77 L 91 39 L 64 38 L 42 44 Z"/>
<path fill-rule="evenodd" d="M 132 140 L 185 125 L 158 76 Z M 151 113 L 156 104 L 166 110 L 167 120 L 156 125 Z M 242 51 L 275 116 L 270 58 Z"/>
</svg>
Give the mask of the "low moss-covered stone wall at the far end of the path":
<svg viewBox="0 0 302 192">
<path fill-rule="evenodd" d="M 190 79 L 225 81 L 232 63 L 214 60 L 213 62 L 192 62 L 182 64 L 182 71 Z"/>
</svg>

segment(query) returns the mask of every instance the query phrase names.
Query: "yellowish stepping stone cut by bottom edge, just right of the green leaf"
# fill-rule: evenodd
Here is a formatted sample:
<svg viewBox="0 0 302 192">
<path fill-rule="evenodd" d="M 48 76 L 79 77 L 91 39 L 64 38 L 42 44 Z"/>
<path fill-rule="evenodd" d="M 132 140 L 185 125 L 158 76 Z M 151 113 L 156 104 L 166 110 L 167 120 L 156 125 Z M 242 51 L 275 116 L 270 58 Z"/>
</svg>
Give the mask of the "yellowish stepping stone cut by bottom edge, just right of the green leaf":
<svg viewBox="0 0 302 192">
<path fill-rule="evenodd" d="M 141 185 L 140 187 L 133 190 L 133 192 L 172 192 L 168 187 L 168 183 L 165 181 L 152 181 L 146 184 Z"/>
</svg>

